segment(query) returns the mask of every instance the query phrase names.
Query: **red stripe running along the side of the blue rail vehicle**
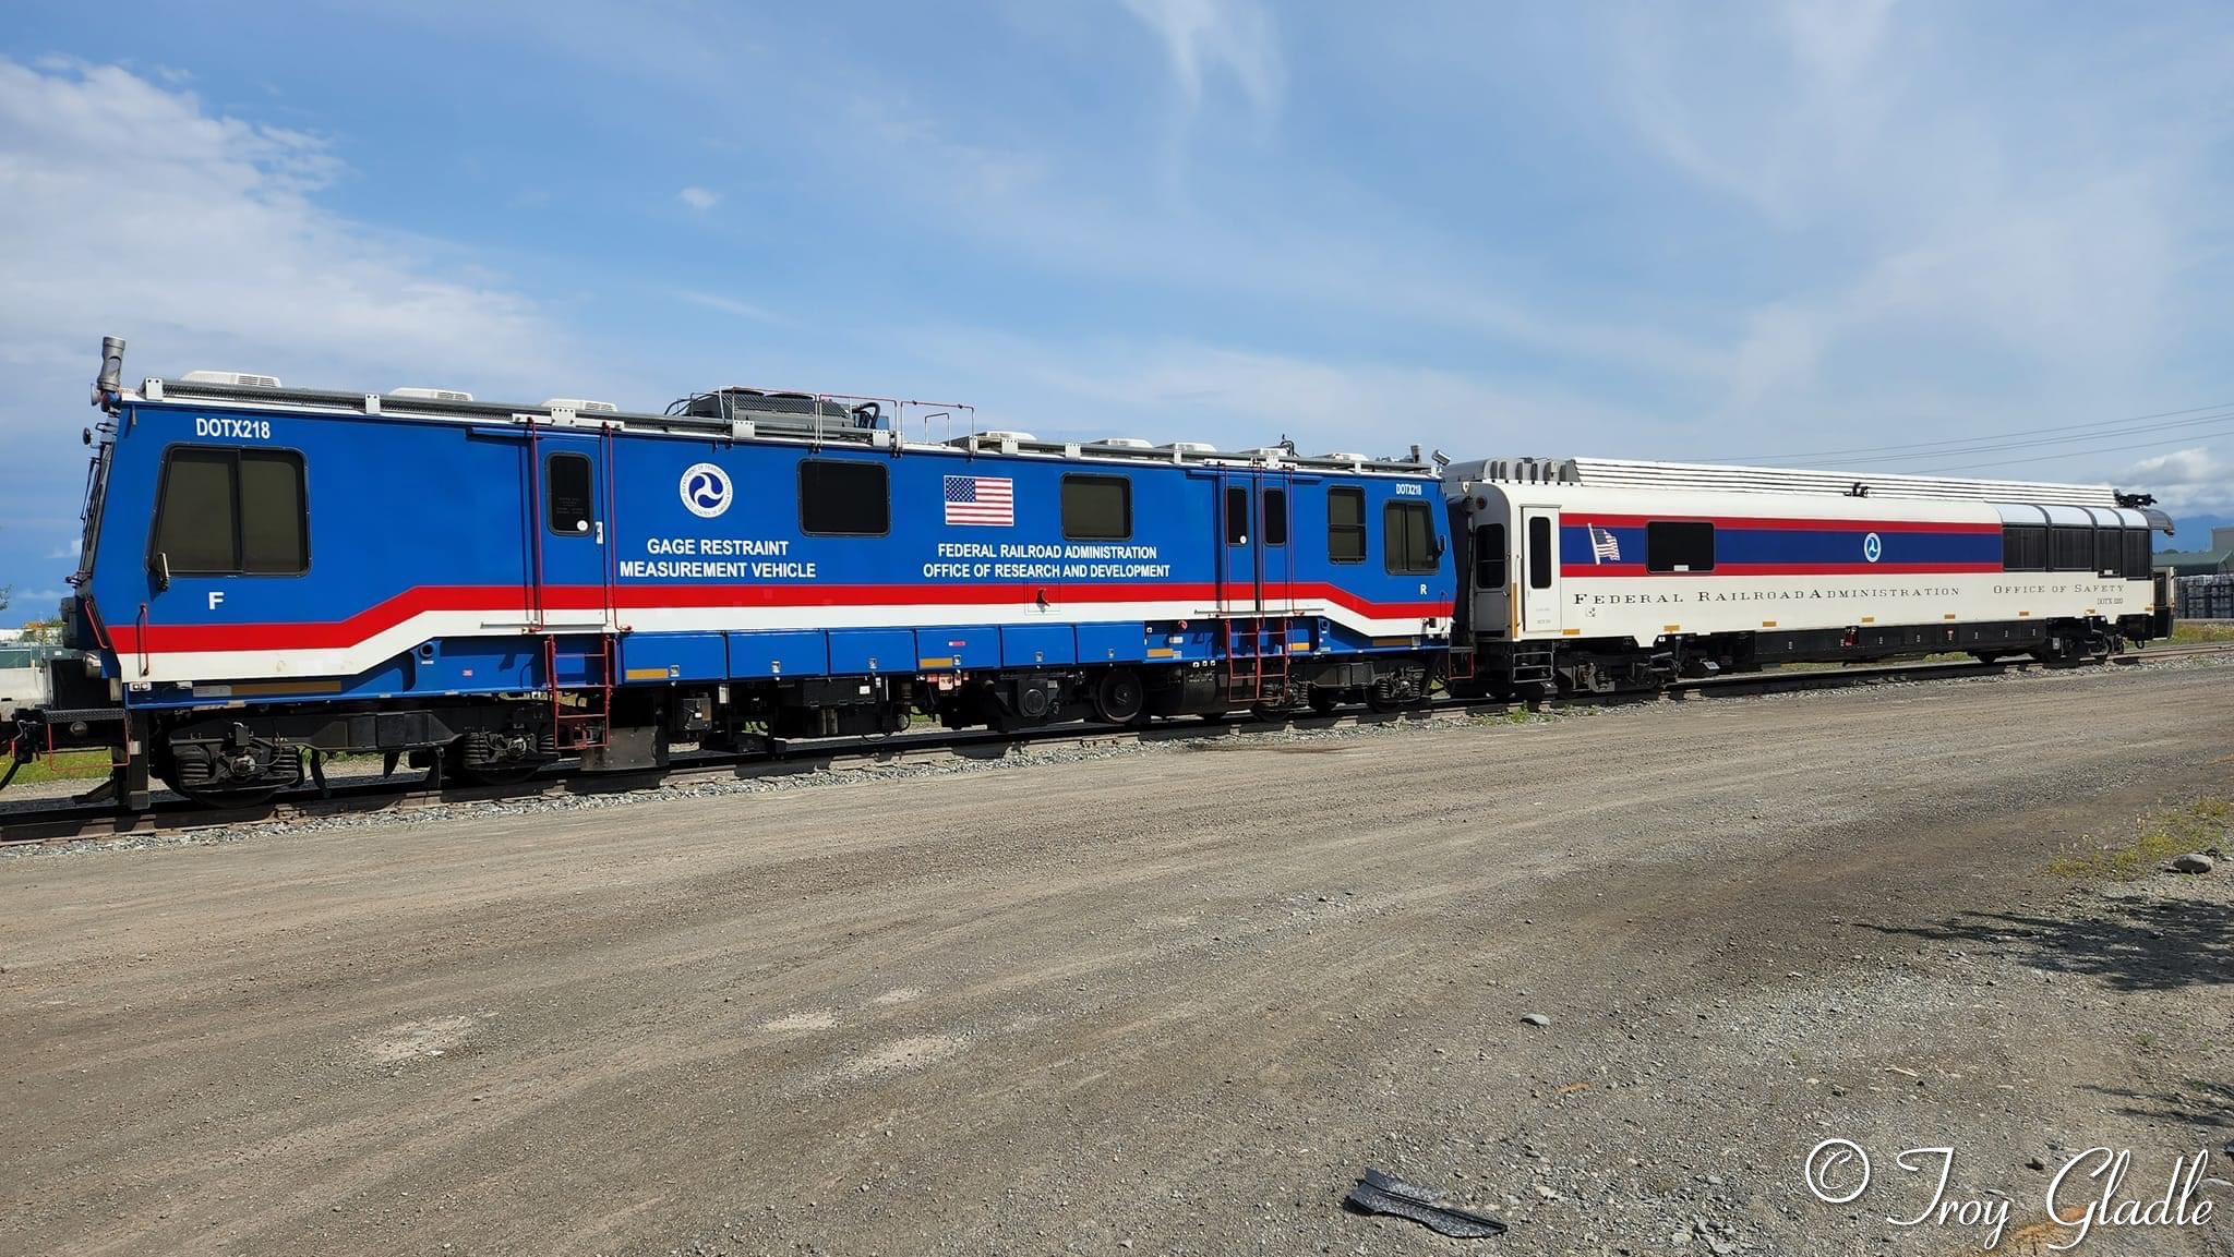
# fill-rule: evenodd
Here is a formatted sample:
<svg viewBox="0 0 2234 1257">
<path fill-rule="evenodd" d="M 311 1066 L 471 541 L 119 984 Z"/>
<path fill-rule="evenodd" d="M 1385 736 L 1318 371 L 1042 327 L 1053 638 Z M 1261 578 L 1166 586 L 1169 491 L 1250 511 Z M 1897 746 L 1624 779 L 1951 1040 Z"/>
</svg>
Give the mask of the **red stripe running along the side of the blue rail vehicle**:
<svg viewBox="0 0 2234 1257">
<path fill-rule="evenodd" d="M 1220 601 L 1215 583 L 1155 585 L 621 585 L 612 592 L 614 607 L 909 607 L 909 605 L 1019 605 L 1046 596 L 1063 603 L 1148 603 Z M 1235 585 L 1231 601 L 1251 598 L 1249 585 Z M 1367 618 L 1441 618 L 1450 603 L 1372 603 L 1325 583 L 1264 585 L 1267 603 L 1325 601 Z M 547 612 L 594 612 L 605 605 L 601 585 L 550 585 L 543 589 Z M 1273 607 L 1278 610 L 1278 607 Z M 185 654 L 208 650 L 342 650 L 373 639 L 424 612 L 503 612 L 529 616 L 527 592 L 518 585 L 420 585 L 366 607 L 346 621 L 328 623 L 259 623 L 259 625 L 147 625 L 145 643 L 136 625 L 114 627 L 118 654 Z M 748 630 L 726 630 L 748 632 Z"/>
</svg>

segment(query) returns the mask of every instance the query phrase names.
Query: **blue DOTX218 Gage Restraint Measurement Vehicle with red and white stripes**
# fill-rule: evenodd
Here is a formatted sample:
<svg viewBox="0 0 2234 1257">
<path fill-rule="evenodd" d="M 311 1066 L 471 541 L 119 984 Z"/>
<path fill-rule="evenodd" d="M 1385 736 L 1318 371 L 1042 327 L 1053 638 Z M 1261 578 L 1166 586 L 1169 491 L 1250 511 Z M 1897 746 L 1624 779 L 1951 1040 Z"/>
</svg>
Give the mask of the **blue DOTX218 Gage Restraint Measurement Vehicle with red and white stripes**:
<svg viewBox="0 0 2234 1257">
<path fill-rule="evenodd" d="M 65 605 L 87 663 L 22 737 L 112 746 L 125 797 L 259 797 L 333 752 L 491 781 L 918 714 L 1390 708 L 1450 641 L 1416 455 L 905 440 L 898 402 L 753 388 L 125 388 L 121 355 Z"/>
</svg>

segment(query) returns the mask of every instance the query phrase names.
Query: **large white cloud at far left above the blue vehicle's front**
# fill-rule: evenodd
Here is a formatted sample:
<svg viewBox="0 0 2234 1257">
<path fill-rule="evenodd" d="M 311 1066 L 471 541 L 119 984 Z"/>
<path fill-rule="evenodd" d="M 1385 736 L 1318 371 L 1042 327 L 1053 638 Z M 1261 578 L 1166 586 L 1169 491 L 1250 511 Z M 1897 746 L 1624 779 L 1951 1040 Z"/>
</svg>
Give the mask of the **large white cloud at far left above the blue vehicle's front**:
<svg viewBox="0 0 2234 1257">
<path fill-rule="evenodd" d="M 529 299 L 442 246 L 322 208 L 342 174 L 317 136 L 125 69 L 0 58 L 0 362 L 83 373 L 103 333 L 165 368 L 371 386 L 550 377 L 570 359 Z"/>
</svg>

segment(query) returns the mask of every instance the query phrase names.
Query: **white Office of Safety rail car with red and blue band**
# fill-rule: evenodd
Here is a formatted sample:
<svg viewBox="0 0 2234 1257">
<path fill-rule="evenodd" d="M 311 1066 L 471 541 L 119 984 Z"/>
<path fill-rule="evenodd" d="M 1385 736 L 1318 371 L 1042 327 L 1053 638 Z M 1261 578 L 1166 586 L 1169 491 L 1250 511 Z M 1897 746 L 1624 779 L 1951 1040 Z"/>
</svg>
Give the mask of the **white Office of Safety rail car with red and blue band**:
<svg viewBox="0 0 2234 1257">
<path fill-rule="evenodd" d="M 1443 484 L 1461 690 L 1935 652 L 2082 661 L 2169 627 L 2149 569 L 2169 520 L 2109 487 L 1584 458 L 1452 464 Z"/>
</svg>

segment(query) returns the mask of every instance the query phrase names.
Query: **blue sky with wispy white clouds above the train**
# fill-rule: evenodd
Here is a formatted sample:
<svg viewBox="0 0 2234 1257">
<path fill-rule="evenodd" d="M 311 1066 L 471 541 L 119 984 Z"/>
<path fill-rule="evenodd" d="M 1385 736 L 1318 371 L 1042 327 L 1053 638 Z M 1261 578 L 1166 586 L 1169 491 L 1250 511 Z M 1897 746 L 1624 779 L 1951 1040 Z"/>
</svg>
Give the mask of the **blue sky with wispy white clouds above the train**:
<svg viewBox="0 0 2234 1257">
<path fill-rule="evenodd" d="M 18 2 L 0 585 L 60 592 L 103 333 L 1229 447 L 1944 442 L 1877 464 L 2225 514 L 2230 65 L 2227 4 Z"/>
</svg>

